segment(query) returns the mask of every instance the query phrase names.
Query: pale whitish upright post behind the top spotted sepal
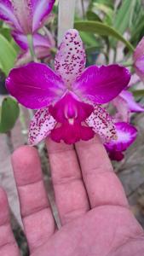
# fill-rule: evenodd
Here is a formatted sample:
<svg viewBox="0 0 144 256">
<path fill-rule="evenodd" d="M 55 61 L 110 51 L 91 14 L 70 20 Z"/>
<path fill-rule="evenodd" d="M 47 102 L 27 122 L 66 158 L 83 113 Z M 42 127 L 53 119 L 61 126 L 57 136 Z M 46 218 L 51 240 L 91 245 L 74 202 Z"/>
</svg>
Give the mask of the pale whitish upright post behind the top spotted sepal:
<svg viewBox="0 0 144 256">
<path fill-rule="evenodd" d="M 65 32 L 73 28 L 75 3 L 76 0 L 59 1 L 58 45 L 60 45 Z"/>
</svg>

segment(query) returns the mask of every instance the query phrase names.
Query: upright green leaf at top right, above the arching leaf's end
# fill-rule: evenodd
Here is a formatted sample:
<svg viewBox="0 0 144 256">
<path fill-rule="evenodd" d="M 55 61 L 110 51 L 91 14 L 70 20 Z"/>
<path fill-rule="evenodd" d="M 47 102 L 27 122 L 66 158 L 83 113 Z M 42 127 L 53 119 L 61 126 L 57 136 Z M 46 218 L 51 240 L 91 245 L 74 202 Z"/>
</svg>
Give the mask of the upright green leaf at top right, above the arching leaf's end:
<svg viewBox="0 0 144 256">
<path fill-rule="evenodd" d="M 113 20 L 113 26 L 118 30 L 118 32 L 123 34 L 130 26 L 134 10 L 135 0 L 122 1 L 122 5 L 118 9 L 118 12 Z"/>
</svg>

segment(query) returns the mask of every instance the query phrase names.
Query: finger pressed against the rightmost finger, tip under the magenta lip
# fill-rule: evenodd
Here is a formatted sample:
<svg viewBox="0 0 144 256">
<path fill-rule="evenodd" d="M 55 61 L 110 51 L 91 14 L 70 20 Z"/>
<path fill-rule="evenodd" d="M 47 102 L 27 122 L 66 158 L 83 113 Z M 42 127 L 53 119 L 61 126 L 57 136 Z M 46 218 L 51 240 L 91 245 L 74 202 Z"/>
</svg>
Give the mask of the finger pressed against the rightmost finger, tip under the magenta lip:
<svg viewBox="0 0 144 256">
<path fill-rule="evenodd" d="M 55 201 L 61 224 L 66 224 L 89 210 L 89 201 L 78 166 L 77 155 L 72 146 L 46 141 Z"/>
</svg>

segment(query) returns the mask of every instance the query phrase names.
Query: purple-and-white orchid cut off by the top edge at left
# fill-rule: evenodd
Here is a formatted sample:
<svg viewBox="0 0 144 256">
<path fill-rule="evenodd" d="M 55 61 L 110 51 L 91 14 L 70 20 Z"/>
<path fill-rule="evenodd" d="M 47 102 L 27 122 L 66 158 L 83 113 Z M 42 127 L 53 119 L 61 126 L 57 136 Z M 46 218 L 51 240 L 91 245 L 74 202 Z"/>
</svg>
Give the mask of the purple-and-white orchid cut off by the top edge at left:
<svg viewBox="0 0 144 256">
<path fill-rule="evenodd" d="M 0 19 L 14 32 L 34 34 L 43 26 L 55 0 L 0 0 Z"/>
</svg>

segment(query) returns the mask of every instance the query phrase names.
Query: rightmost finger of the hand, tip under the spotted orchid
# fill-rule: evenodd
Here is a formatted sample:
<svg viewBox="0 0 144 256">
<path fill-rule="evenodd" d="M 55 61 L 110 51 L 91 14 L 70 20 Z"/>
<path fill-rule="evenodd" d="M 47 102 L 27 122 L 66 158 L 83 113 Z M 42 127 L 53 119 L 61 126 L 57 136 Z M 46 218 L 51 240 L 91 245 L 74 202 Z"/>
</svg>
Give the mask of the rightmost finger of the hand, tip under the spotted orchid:
<svg viewBox="0 0 144 256">
<path fill-rule="evenodd" d="M 99 137 L 76 143 L 91 207 L 101 205 L 128 206 L 124 189 L 112 170 L 111 162 Z"/>
</svg>

